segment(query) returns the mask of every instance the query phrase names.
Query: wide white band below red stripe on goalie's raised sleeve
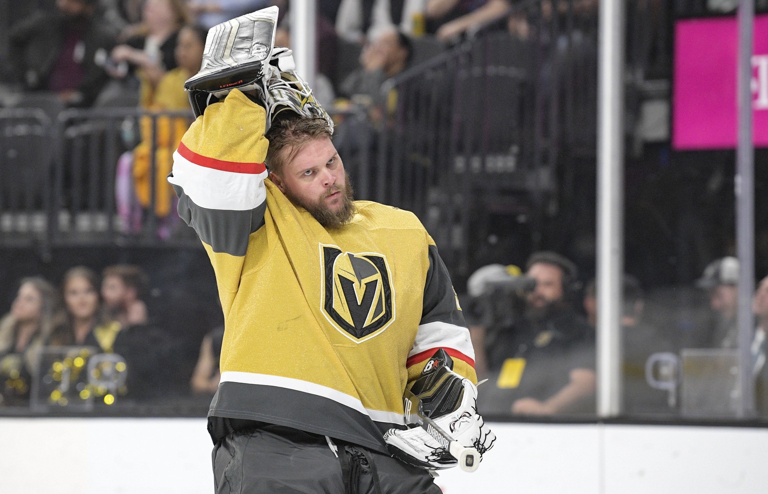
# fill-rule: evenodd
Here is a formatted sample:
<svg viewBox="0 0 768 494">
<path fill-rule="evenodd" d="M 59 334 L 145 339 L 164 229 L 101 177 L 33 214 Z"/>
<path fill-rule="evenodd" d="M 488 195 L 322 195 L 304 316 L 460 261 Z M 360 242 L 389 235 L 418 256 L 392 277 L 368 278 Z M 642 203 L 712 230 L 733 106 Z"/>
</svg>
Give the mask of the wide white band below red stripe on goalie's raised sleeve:
<svg viewBox="0 0 768 494">
<path fill-rule="evenodd" d="M 266 176 L 266 171 L 239 174 L 201 167 L 175 151 L 174 172 L 168 181 L 184 189 L 184 194 L 199 207 L 250 211 L 266 201 Z"/>
</svg>

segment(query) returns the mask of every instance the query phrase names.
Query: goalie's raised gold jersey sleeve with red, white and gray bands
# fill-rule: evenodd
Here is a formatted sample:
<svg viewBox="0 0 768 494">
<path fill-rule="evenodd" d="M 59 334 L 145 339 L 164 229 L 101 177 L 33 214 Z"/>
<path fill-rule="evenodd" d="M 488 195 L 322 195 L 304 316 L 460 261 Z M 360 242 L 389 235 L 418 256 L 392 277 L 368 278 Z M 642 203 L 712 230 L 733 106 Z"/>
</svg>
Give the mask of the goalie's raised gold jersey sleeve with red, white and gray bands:
<svg viewBox="0 0 768 494">
<path fill-rule="evenodd" d="M 184 134 L 168 181 L 179 216 L 200 236 L 213 264 L 222 306 L 234 293 L 250 235 L 264 224 L 266 112 L 237 89 L 210 104 Z"/>
</svg>

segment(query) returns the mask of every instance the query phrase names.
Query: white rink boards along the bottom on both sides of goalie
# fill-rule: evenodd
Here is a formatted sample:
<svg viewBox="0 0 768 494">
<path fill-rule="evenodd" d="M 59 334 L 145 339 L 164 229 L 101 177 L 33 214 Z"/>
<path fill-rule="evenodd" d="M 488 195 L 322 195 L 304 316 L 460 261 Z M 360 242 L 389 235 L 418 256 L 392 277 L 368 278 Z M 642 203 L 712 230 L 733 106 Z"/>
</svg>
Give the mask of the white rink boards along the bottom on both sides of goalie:
<svg viewBox="0 0 768 494">
<path fill-rule="evenodd" d="M 768 429 L 492 423 L 446 494 L 765 494 Z M 210 494 L 204 419 L 0 419 L 2 494 Z"/>
</svg>

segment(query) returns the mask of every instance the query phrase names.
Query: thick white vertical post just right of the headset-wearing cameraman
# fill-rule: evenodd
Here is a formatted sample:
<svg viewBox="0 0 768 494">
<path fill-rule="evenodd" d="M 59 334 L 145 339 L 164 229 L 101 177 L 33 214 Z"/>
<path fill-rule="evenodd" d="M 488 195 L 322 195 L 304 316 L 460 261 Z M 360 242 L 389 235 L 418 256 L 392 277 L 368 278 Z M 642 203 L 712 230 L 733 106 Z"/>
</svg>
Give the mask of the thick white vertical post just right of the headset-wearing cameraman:
<svg viewBox="0 0 768 494">
<path fill-rule="evenodd" d="M 598 58 L 598 416 L 621 412 L 624 271 L 624 0 L 600 2 Z"/>
</svg>

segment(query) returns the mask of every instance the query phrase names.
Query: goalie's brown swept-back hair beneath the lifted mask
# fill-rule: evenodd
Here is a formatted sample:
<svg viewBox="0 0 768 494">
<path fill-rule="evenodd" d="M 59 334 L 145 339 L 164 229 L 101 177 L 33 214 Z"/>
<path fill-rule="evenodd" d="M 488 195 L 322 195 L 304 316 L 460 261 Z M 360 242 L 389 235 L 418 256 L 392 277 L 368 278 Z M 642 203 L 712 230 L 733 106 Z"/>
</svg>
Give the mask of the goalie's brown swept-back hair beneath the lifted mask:
<svg viewBox="0 0 768 494">
<path fill-rule="evenodd" d="M 270 173 L 283 176 L 283 167 L 304 144 L 317 138 L 331 138 L 328 122 L 323 118 L 306 118 L 292 114 L 290 118 L 273 121 L 266 133 L 270 147 L 266 151 L 266 166 Z"/>
</svg>

